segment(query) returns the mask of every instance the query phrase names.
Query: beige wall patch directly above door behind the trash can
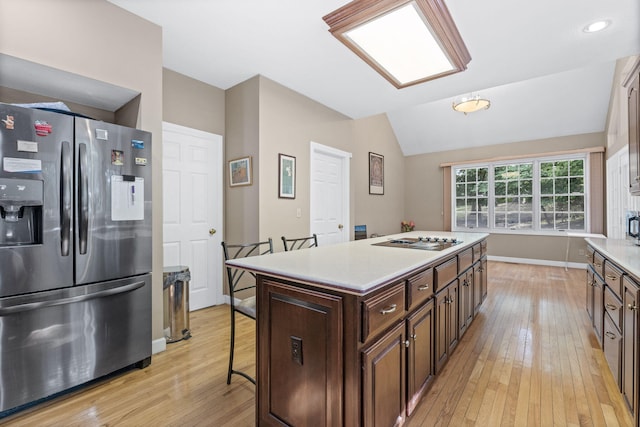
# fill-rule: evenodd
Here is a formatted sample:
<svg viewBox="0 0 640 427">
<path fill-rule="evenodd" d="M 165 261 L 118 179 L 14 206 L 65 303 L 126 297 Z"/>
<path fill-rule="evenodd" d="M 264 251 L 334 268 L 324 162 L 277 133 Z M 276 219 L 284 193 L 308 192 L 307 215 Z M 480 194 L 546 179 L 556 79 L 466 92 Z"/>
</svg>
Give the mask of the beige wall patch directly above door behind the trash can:
<svg viewBox="0 0 640 427">
<path fill-rule="evenodd" d="M 162 119 L 224 136 L 225 91 L 164 68 Z"/>
</svg>

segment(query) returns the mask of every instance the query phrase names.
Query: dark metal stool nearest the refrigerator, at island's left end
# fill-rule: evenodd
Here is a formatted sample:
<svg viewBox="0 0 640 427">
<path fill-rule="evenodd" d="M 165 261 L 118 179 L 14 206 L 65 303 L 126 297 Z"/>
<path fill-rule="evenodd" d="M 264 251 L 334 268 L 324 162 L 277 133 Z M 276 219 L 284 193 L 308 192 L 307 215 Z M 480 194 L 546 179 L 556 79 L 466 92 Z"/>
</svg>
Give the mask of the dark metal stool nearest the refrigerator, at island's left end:
<svg viewBox="0 0 640 427">
<path fill-rule="evenodd" d="M 250 256 L 259 256 L 273 253 L 273 241 L 271 238 L 264 242 L 229 244 L 222 242 L 225 261 Z M 229 304 L 231 306 L 231 342 L 229 348 L 229 370 L 227 371 L 227 384 L 231 384 L 231 375 L 237 374 L 245 377 L 252 383 L 256 380 L 242 371 L 233 369 L 233 350 L 236 338 L 236 312 L 256 320 L 256 296 L 240 299 L 236 293 L 255 289 L 256 275 L 250 271 L 242 270 L 225 264 L 227 269 L 227 281 L 229 284 Z M 245 275 L 248 273 L 248 275 Z"/>
</svg>

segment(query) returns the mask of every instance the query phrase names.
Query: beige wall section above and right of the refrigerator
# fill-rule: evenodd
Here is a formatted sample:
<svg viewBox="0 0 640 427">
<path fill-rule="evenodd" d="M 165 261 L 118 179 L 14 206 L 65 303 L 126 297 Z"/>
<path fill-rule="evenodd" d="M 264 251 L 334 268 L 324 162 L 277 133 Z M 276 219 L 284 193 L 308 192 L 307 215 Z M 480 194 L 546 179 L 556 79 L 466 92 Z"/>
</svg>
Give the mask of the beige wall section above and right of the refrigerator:
<svg viewBox="0 0 640 427">
<path fill-rule="evenodd" d="M 0 0 L 0 53 L 142 94 L 162 182 L 162 29 L 104 0 Z M 162 186 L 153 186 L 153 338 L 162 332 Z M 159 238 L 155 238 L 159 236 Z"/>
</svg>

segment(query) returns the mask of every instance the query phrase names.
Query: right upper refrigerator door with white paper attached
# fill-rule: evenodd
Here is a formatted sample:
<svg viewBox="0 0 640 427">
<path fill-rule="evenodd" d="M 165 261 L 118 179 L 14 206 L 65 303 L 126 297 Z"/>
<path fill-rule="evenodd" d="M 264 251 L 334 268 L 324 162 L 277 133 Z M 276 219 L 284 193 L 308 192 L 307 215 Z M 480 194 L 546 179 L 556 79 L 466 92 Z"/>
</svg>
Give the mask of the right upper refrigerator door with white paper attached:
<svg viewBox="0 0 640 427">
<path fill-rule="evenodd" d="M 75 122 L 76 284 L 151 271 L 151 134 Z"/>
</svg>

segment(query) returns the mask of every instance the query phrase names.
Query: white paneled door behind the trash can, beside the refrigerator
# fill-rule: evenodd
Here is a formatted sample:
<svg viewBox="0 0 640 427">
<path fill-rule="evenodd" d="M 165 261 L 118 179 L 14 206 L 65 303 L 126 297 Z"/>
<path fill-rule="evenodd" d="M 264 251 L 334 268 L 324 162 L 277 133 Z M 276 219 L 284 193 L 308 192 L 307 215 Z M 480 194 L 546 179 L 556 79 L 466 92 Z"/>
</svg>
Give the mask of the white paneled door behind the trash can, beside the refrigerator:
<svg viewBox="0 0 640 427">
<path fill-rule="evenodd" d="M 222 136 L 163 123 L 165 266 L 189 267 L 189 309 L 223 303 Z"/>
</svg>

